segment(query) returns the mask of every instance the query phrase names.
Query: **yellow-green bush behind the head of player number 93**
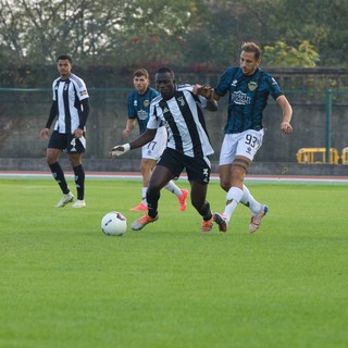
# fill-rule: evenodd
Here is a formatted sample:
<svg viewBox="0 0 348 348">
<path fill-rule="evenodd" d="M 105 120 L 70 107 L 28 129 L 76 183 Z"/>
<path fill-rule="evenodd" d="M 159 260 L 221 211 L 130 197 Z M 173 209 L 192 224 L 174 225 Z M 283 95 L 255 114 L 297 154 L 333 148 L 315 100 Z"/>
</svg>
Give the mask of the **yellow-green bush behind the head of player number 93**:
<svg viewBox="0 0 348 348">
<path fill-rule="evenodd" d="M 274 46 L 263 48 L 262 61 L 268 66 L 314 67 L 319 54 L 308 41 L 302 41 L 298 48 L 276 41 Z"/>
</svg>

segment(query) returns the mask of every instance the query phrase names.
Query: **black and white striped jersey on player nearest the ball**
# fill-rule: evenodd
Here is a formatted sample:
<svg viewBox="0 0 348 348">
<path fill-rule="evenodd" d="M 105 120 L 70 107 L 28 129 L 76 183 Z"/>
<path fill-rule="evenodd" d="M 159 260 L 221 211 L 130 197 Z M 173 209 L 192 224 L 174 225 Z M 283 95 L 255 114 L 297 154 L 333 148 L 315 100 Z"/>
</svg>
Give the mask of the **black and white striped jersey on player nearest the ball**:
<svg viewBox="0 0 348 348">
<path fill-rule="evenodd" d="M 206 128 L 201 108 L 207 107 L 207 99 L 192 94 L 192 86 L 176 85 L 175 95 L 165 100 L 156 97 L 150 104 L 148 128 L 156 129 L 165 125 L 167 148 L 185 156 L 204 157 L 214 153 Z"/>
</svg>

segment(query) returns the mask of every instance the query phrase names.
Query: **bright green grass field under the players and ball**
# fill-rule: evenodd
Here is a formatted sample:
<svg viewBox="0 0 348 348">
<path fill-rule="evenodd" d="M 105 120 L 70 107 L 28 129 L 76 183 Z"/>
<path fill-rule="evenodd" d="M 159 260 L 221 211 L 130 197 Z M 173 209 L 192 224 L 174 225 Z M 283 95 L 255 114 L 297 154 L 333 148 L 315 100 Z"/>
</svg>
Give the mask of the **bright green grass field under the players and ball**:
<svg viewBox="0 0 348 348">
<path fill-rule="evenodd" d="M 270 208 L 253 235 L 243 206 L 201 235 L 163 190 L 157 223 L 104 236 L 105 212 L 140 215 L 140 187 L 87 178 L 74 210 L 51 178 L 0 179 L 1 348 L 348 346 L 347 185 L 249 183 Z M 217 183 L 208 198 L 223 210 Z"/>
</svg>

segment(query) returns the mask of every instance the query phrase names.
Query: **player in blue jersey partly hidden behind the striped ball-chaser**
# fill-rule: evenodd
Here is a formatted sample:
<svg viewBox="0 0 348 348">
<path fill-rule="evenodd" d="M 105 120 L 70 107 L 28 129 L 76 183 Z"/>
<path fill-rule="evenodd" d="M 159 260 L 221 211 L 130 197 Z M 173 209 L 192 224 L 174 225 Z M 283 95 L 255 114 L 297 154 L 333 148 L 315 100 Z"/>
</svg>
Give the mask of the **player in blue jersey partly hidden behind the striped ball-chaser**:
<svg viewBox="0 0 348 348">
<path fill-rule="evenodd" d="M 146 132 L 146 126 L 149 121 L 149 110 L 151 100 L 159 95 L 157 90 L 149 87 L 150 78 L 149 73 L 145 69 L 139 69 L 133 74 L 133 84 L 135 90 L 129 94 L 127 100 L 128 120 L 123 136 L 128 137 L 132 133 L 135 123 L 138 122 L 140 134 Z M 152 171 L 157 161 L 161 157 L 166 145 L 166 130 L 165 127 L 159 127 L 156 137 L 149 144 L 146 144 L 141 148 L 141 163 L 140 171 L 142 175 L 142 190 L 141 202 L 129 209 L 130 211 L 148 210 L 148 203 L 146 200 L 146 192 L 149 186 Z M 170 181 L 165 188 L 176 195 L 181 211 L 185 211 L 187 207 L 186 198 L 188 195 L 187 189 L 179 189 L 172 181 Z"/>
</svg>

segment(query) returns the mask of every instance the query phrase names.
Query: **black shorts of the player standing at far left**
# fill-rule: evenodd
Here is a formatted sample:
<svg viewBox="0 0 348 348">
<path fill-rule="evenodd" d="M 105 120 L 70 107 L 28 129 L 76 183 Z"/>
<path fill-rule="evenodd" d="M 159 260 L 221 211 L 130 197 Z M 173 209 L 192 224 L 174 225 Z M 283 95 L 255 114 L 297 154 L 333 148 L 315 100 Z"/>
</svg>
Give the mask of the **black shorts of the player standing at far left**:
<svg viewBox="0 0 348 348">
<path fill-rule="evenodd" d="M 66 150 L 67 153 L 83 153 L 85 152 L 86 138 L 85 134 L 83 141 L 78 138 L 75 138 L 73 134 L 63 134 L 58 130 L 53 130 L 48 141 L 48 148 L 50 149 L 60 149 L 62 151 Z"/>
</svg>

